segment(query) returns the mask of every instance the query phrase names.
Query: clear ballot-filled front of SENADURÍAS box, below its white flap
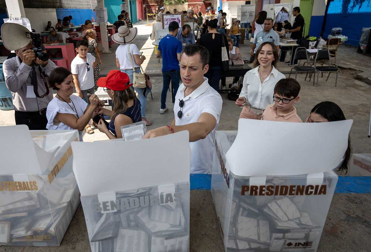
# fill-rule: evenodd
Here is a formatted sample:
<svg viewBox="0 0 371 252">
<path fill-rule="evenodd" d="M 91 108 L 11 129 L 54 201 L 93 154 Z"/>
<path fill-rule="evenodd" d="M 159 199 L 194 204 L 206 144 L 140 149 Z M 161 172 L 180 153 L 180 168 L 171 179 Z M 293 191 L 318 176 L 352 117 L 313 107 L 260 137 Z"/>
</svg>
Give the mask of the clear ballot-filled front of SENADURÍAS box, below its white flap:
<svg viewBox="0 0 371 252">
<path fill-rule="evenodd" d="M 188 252 L 190 183 L 173 188 L 119 191 L 103 202 L 81 196 L 92 252 Z"/>
</svg>

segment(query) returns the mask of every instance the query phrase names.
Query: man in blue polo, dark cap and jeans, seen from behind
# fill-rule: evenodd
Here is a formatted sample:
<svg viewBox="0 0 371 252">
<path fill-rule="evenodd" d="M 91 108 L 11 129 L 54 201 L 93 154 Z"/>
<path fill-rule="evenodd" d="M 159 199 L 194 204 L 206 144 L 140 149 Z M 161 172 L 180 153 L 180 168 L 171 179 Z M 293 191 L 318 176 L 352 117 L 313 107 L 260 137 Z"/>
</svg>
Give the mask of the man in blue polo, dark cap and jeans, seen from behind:
<svg viewBox="0 0 371 252">
<path fill-rule="evenodd" d="M 166 94 L 170 86 L 170 80 L 174 87 L 174 101 L 180 82 L 180 53 L 182 52 L 182 43 L 175 37 L 178 34 L 179 24 L 173 21 L 169 24 L 169 34 L 160 40 L 157 48 L 156 58 L 162 57 L 162 78 L 163 87 L 161 92 L 160 114 L 167 111 Z"/>
</svg>

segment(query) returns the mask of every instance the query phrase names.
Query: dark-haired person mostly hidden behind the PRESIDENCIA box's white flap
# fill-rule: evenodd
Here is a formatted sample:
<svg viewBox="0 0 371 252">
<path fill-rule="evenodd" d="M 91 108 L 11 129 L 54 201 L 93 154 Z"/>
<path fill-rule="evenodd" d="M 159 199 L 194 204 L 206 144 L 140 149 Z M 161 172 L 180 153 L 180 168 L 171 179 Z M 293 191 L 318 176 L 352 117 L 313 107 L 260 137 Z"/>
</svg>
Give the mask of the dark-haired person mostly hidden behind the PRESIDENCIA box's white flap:
<svg viewBox="0 0 371 252">
<path fill-rule="evenodd" d="M 305 122 L 334 122 L 347 120 L 341 108 L 334 102 L 323 101 L 315 105 L 311 110 L 311 114 L 306 118 Z M 348 136 L 348 148 L 344 153 L 344 158 L 339 164 L 338 171 L 348 172 L 348 163 L 352 156 L 352 145 L 350 144 L 350 136 Z"/>
</svg>

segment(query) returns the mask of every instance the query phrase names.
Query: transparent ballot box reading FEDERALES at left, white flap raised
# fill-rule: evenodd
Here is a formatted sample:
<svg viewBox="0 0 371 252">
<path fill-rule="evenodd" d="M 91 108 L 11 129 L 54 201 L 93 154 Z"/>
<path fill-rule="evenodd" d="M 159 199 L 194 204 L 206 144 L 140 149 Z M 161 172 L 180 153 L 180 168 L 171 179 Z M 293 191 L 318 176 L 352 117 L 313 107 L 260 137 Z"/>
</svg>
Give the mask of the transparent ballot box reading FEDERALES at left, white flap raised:
<svg viewBox="0 0 371 252">
<path fill-rule="evenodd" d="M 59 246 L 80 202 L 76 130 L 0 127 L 0 245 Z"/>
</svg>

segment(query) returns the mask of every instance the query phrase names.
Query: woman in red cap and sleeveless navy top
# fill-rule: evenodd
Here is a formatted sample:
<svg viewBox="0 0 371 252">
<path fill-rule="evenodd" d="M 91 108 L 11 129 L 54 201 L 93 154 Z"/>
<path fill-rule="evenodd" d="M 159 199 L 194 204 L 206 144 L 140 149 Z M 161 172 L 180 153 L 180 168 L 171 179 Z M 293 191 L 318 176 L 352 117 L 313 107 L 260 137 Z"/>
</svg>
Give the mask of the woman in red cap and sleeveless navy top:
<svg viewBox="0 0 371 252">
<path fill-rule="evenodd" d="M 122 138 L 121 126 L 142 121 L 141 104 L 135 96 L 134 90 L 129 88 L 133 84 L 130 84 L 129 76 L 126 73 L 120 70 L 111 70 L 107 77 L 99 78 L 97 85 L 103 87 L 115 105 L 113 111 L 102 107 L 96 108 L 96 114 L 105 114 L 111 117 L 109 129 L 101 120 L 98 124 L 98 130 L 104 132 L 109 139 Z"/>
</svg>

